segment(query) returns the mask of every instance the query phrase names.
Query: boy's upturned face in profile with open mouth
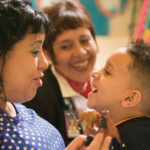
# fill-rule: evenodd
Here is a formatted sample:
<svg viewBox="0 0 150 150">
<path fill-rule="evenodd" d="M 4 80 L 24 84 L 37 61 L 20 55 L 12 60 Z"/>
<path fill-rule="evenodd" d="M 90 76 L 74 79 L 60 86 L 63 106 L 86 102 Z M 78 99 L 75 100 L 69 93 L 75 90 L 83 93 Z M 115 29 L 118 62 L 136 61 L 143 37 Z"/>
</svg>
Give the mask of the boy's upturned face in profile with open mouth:
<svg viewBox="0 0 150 150">
<path fill-rule="evenodd" d="M 89 94 L 88 106 L 101 112 L 118 111 L 122 100 L 128 97 L 130 88 L 130 73 L 128 65 L 132 63 L 126 48 L 113 53 L 105 66 L 92 74 L 93 91 Z"/>
</svg>

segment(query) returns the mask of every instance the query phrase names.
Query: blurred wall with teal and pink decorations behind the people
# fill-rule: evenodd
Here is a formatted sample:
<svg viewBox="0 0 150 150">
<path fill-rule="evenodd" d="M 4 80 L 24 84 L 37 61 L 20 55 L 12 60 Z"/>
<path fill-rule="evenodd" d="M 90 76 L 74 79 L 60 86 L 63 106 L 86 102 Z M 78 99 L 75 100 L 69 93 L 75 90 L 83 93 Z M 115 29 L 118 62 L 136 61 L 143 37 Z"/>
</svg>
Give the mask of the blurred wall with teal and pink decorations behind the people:
<svg viewBox="0 0 150 150">
<path fill-rule="evenodd" d="M 31 0 L 42 9 L 53 0 Z M 55 1 L 55 0 L 54 0 Z M 99 47 L 96 68 L 114 50 L 139 38 L 150 42 L 150 0 L 80 0 L 88 9 Z"/>
</svg>

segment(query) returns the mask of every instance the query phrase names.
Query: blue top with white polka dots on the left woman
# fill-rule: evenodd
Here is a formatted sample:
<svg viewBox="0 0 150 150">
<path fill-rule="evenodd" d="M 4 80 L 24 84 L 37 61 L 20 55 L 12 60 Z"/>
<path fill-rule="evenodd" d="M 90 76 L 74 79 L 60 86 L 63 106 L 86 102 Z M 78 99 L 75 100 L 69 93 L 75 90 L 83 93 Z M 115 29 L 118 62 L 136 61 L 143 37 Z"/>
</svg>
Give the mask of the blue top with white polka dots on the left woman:
<svg viewBox="0 0 150 150">
<path fill-rule="evenodd" d="M 64 141 L 57 129 L 32 109 L 14 104 L 17 116 L 0 110 L 1 150 L 64 150 Z"/>
</svg>

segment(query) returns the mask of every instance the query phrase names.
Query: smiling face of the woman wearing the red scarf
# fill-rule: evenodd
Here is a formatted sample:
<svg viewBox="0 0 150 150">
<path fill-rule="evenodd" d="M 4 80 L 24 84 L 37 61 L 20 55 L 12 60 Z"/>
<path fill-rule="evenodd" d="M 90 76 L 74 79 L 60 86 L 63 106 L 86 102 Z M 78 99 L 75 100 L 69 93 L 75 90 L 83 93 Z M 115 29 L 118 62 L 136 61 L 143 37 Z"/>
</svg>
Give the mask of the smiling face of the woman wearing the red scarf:
<svg viewBox="0 0 150 150">
<path fill-rule="evenodd" d="M 84 82 L 93 70 L 97 45 L 87 28 L 64 31 L 53 43 L 56 70 L 74 81 Z"/>
</svg>

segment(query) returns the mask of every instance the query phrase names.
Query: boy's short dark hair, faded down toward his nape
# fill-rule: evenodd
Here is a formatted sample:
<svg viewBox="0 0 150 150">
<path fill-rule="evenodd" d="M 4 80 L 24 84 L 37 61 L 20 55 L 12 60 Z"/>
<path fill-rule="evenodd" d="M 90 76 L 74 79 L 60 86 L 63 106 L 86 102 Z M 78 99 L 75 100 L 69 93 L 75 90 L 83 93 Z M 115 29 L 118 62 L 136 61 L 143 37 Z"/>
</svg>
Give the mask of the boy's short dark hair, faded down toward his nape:
<svg viewBox="0 0 150 150">
<path fill-rule="evenodd" d="M 127 45 L 127 52 L 133 59 L 129 71 L 133 73 L 131 84 L 142 94 L 143 111 L 150 110 L 150 44 L 136 40 Z"/>
</svg>

